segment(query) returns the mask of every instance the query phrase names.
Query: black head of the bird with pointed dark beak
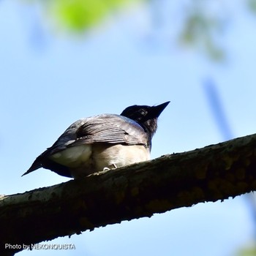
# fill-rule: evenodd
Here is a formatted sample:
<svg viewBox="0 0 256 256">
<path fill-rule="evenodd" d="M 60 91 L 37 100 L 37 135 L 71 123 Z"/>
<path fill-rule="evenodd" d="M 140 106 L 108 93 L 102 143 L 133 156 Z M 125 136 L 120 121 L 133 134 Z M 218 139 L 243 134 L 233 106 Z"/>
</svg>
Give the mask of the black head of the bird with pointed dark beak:
<svg viewBox="0 0 256 256">
<path fill-rule="evenodd" d="M 121 116 L 126 116 L 138 124 L 140 124 L 147 132 L 150 137 L 157 131 L 157 118 L 160 116 L 162 111 L 167 107 L 170 102 L 165 102 L 157 106 L 147 105 L 133 105 L 126 108 Z"/>
</svg>

